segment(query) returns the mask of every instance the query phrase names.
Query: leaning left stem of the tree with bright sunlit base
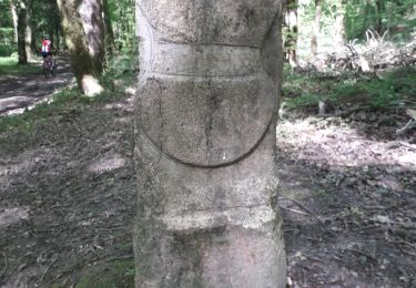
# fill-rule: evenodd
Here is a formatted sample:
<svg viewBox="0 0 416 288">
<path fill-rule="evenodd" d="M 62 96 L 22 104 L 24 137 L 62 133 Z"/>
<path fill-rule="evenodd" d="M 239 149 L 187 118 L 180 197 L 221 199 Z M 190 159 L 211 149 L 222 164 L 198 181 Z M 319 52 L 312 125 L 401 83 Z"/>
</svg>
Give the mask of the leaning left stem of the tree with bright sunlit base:
<svg viewBox="0 0 416 288">
<path fill-rule="evenodd" d="M 79 88 L 87 95 L 99 94 L 103 91 L 98 80 L 100 69 L 95 66 L 94 54 L 90 54 L 88 43 L 88 39 L 94 38 L 94 35 L 93 33 L 89 37 L 84 34 L 82 20 L 78 12 L 79 1 L 58 0 L 58 7 L 61 13 L 65 43 L 70 52 L 71 66 Z M 92 43 L 91 48 L 94 48 L 95 43 Z"/>
</svg>

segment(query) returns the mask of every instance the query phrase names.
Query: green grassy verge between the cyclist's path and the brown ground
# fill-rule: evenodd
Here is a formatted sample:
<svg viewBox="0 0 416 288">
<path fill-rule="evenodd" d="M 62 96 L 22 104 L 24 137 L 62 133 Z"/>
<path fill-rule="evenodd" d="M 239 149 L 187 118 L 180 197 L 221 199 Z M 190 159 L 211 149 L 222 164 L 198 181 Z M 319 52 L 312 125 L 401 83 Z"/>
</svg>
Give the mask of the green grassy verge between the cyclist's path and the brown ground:
<svg viewBox="0 0 416 288">
<path fill-rule="evenodd" d="M 3 63 L 11 63 L 3 60 Z M 74 83 L 55 92 L 52 97 L 24 113 L 0 117 L 0 133 L 13 130 L 23 136 L 35 131 L 39 123 L 49 116 L 69 111 L 88 109 L 98 103 L 116 101 L 128 86 L 134 84 L 134 58 L 131 55 L 115 56 L 110 61 L 109 68 L 101 78 L 104 92 L 95 96 L 84 96 Z"/>
</svg>

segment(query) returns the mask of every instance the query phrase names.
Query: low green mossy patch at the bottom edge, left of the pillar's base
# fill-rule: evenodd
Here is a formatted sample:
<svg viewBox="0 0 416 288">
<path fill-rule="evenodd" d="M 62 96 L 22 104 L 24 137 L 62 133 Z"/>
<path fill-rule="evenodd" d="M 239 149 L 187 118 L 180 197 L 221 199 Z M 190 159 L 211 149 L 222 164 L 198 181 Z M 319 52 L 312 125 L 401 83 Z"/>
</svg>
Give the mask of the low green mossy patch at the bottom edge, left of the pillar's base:
<svg viewBox="0 0 416 288">
<path fill-rule="evenodd" d="M 99 263 L 81 271 L 75 288 L 132 288 L 134 287 L 134 261 L 114 260 Z"/>
</svg>

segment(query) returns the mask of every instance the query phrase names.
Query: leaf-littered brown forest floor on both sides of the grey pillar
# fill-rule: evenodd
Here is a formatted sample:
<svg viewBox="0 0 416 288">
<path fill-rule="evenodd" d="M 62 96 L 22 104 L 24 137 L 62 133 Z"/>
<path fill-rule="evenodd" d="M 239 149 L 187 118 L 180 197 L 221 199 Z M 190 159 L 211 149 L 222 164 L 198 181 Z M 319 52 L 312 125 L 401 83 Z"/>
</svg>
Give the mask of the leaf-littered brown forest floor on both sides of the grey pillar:
<svg viewBox="0 0 416 288">
<path fill-rule="evenodd" d="M 69 101 L 1 132 L 0 287 L 132 287 L 132 97 Z M 405 124 L 363 111 L 278 123 L 291 287 L 416 286 L 416 135 L 395 133 Z"/>
</svg>

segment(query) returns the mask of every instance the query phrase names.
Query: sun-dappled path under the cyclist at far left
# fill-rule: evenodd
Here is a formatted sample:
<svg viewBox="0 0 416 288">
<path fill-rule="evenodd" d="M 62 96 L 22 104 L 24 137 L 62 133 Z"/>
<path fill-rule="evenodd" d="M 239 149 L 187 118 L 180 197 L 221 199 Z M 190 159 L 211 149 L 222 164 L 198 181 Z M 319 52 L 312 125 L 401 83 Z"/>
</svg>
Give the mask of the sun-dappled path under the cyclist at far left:
<svg viewBox="0 0 416 288">
<path fill-rule="evenodd" d="M 73 76 L 69 59 L 63 56 L 57 61 L 54 78 L 45 79 L 40 68 L 37 73 L 0 76 L 0 116 L 21 113 L 58 89 L 68 85 Z"/>
</svg>

